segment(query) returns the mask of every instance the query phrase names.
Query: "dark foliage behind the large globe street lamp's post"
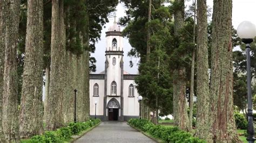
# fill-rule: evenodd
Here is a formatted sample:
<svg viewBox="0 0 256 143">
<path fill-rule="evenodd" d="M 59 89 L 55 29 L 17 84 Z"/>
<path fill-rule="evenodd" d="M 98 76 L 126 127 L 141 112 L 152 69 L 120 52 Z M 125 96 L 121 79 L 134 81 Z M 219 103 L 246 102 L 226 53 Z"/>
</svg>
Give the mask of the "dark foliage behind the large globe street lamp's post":
<svg viewBox="0 0 256 143">
<path fill-rule="evenodd" d="M 235 36 L 234 36 L 235 35 Z M 251 76 L 252 78 L 256 73 L 256 45 L 255 45 L 256 37 L 254 38 L 254 42 L 251 43 Z M 233 46 L 240 46 L 240 51 L 233 52 L 233 66 L 234 66 L 234 88 L 233 88 L 233 97 L 234 97 L 234 105 L 238 106 L 240 110 L 245 110 L 247 105 L 247 76 L 246 76 L 246 52 L 245 52 L 245 44 L 241 44 L 241 39 L 237 37 L 237 33 L 233 30 L 232 33 L 232 42 Z M 252 95 L 256 94 L 255 85 L 252 88 Z M 253 108 L 256 108 L 256 98 L 253 98 Z"/>
</svg>

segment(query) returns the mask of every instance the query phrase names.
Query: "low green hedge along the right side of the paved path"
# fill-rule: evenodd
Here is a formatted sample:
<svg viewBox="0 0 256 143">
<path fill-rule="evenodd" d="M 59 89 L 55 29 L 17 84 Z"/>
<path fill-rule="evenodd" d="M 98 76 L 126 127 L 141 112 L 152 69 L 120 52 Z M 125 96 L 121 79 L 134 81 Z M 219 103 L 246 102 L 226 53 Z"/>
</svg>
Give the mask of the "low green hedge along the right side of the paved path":
<svg viewBox="0 0 256 143">
<path fill-rule="evenodd" d="M 178 127 L 165 127 L 154 125 L 146 119 L 130 119 L 128 123 L 140 130 L 151 134 L 154 138 L 165 142 L 206 142 L 205 140 L 192 137 L 191 133 L 181 131 Z"/>
</svg>

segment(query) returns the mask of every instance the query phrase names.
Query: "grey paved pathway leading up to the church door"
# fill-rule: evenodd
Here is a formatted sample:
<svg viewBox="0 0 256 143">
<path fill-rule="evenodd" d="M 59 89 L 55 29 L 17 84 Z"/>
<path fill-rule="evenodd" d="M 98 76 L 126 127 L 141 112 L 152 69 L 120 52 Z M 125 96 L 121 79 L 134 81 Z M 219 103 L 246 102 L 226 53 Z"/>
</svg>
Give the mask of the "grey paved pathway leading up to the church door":
<svg viewBox="0 0 256 143">
<path fill-rule="evenodd" d="M 104 121 L 75 142 L 155 142 L 126 122 Z"/>
</svg>

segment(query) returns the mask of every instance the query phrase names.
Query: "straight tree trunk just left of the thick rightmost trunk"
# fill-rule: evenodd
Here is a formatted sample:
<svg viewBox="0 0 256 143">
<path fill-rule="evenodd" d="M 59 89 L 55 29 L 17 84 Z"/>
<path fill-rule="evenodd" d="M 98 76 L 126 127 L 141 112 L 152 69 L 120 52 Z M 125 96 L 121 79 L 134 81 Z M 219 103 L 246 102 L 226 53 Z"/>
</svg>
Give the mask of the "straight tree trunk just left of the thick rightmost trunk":
<svg viewBox="0 0 256 143">
<path fill-rule="evenodd" d="M 210 89 L 207 48 L 207 5 L 206 0 L 197 2 L 197 123 L 196 135 L 206 139 L 209 135 Z"/>
</svg>

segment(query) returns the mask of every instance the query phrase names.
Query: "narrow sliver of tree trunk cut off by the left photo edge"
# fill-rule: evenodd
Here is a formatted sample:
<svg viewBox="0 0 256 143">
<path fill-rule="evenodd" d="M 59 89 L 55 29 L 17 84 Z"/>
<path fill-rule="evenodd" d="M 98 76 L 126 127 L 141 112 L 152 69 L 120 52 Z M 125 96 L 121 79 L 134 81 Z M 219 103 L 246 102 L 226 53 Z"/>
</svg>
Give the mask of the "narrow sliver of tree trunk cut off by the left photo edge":
<svg viewBox="0 0 256 143">
<path fill-rule="evenodd" d="M 2 127 L 2 110 L 3 110 L 3 73 L 4 73 L 4 46 L 2 42 L 2 1 L 0 1 L 0 142 L 4 141 Z"/>
</svg>

